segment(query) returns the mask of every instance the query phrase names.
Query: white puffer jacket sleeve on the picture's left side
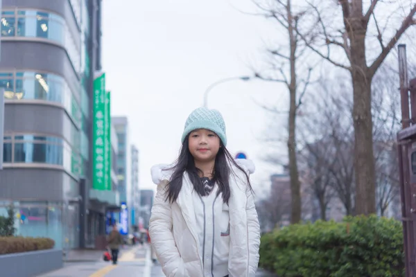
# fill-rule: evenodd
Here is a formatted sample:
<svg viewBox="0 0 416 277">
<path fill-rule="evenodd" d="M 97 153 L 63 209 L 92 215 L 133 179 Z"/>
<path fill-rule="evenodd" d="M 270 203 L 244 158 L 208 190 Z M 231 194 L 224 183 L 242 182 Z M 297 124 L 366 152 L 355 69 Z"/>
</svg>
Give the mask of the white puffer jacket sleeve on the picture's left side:
<svg viewBox="0 0 416 277">
<path fill-rule="evenodd" d="M 157 185 L 149 223 L 150 240 L 164 274 L 168 277 L 182 277 L 184 263 L 173 238 L 171 204 L 165 201 L 166 185 L 167 181 Z"/>
</svg>

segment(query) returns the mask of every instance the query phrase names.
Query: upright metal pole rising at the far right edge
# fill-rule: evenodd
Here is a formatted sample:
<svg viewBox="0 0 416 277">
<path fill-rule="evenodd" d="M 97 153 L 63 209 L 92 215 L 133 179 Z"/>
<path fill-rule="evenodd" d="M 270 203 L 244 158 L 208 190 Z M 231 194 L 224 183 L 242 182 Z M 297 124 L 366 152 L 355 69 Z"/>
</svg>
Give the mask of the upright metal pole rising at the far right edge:
<svg viewBox="0 0 416 277">
<path fill-rule="evenodd" d="M 400 44 L 398 46 L 398 50 L 399 50 L 399 77 L 400 77 L 400 95 L 401 95 L 401 127 L 405 129 L 410 126 L 406 44 Z"/>
</svg>

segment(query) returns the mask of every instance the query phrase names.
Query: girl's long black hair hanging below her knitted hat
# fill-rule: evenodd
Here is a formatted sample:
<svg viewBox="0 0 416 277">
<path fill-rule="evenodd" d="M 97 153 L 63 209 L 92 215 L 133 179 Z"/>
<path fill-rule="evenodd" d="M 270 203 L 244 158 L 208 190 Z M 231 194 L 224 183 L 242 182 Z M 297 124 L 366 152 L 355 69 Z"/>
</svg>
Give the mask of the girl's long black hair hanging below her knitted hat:
<svg viewBox="0 0 416 277">
<path fill-rule="evenodd" d="M 189 179 L 191 179 L 191 182 L 193 184 L 193 189 L 196 190 L 196 192 L 199 195 L 205 194 L 204 186 L 202 185 L 202 181 L 200 179 L 200 174 L 202 174 L 202 170 L 196 168 L 195 160 L 193 159 L 193 156 L 189 151 L 188 143 L 189 134 L 182 143 L 182 147 L 180 148 L 180 154 L 175 162 L 175 165 L 172 168 L 167 169 L 173 169 L 171 180 L 169 181 L 169 184 L 167 186 L 166 195 L 166 200 L 169 200 L 169 202 L 171 203 L 176 201 L 177 196 L 180 193 L 180 190 L 182 188 L 182 179 L 185 171 L 188 172 Z M 244 175 L 247 178 L 248 188 L 250 188 L 250 190 L 252 190 L 252 186 L 247 172 L 245 172 L 245 170 L 243 170 L 243 168 L 241 168 L 241 166 L 239 166 L 239 164 L 236 163 L 236 161 L 234 161 L 231 154 L 229 154 L 227 148 L 225 148 L 222 142 L 220 142 L 220 145 L 221 147 L 218 150 L 218 153 L 216 154 L 215 158 L 214 177 L 212 178 L 212 181 L 215 181 L 216 184 L 218 184 L 217 195 L 223 193 L 223 202 L 228 204 L 228 200 L 231 195 L 231 191 L 229 189 L 229 175 L 231 173 L 234 173 L 235 175 L 235 172 L 233 171 L 231 165 L 234 165 L 236 168 L 244 172 Z"/>
</svg>

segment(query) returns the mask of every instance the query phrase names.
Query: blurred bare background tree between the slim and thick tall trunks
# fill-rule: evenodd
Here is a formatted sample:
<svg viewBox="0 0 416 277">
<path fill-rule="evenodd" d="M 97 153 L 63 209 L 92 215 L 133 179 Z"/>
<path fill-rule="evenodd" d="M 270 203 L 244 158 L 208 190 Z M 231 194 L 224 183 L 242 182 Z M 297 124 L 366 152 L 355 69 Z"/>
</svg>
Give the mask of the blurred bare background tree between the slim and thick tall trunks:
<svg viewBox="0 0 416 277">
<path fill-rule="evenodd" d="M 354 211 L 354 136 L 347 114 L 351 109 L 347 91 L 343 86 L 322 82 L 321 93 L 309 97 L 313 106 L 302 120 L 301 136 L 304 140 L 302 160 L 305 170 L 313 172 L 304 178 L 320 203 L 321 218 L 326 218 L 329 202 L 336 196 L 343 203 L 347 215 Z M 332 91 L 338 91 L 333 94 Z M 313 139 L 309 139 L 313 137 Z M 310 140 L 310 141 L 308 141 Z M 325 217 L 323 217 L 325 216 Z"/>
</svg>

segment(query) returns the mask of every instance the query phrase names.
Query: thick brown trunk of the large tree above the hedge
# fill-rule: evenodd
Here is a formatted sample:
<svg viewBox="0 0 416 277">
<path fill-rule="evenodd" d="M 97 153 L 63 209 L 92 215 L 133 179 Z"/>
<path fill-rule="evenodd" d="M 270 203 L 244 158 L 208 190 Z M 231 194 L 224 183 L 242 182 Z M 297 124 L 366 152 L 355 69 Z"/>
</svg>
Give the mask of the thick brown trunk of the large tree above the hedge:
<svg viewBox="0 0 416 277">
<path fill-rule="evenodd" d="M 352 1 L 351 15 L 345 19 L 350 41 L 350 62 L 354 107 L 354 170 L 356 180 L 355 214 L 376 212 L 374 153 L 372 141 L 371 82 L 373 73 L 367 67 L 363 20 L 363 1 Z"/>
</svg>

